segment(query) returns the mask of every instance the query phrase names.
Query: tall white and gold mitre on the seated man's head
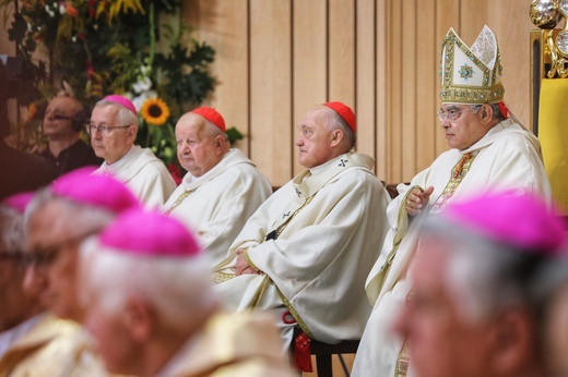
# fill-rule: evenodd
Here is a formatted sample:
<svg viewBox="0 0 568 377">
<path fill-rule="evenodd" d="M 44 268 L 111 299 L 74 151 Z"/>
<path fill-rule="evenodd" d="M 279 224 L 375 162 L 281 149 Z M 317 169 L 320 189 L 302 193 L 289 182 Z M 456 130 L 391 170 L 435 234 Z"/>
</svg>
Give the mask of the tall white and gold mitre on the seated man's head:
<svg viewBox="0 0 568 377">
<path fill-rule="evenodd" d="M 442 104 L 496 104 L 502 101 L 501 56 L 497 38 L 485 25 L 471 48 L 450 28 L 441 45 Z"/>
</svg>

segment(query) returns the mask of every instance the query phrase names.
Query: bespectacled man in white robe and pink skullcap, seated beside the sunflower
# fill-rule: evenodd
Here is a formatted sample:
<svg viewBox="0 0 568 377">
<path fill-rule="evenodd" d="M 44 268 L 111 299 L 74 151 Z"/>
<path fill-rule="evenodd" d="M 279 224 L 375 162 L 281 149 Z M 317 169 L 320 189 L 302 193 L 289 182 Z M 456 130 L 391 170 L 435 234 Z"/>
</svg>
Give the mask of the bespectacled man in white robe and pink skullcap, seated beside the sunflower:
<svg viewBox="0 0 568 377">
<path fill-rule="evenodd" d="M 96 102 L 87 132 L 95 154 L 105 159 L 97 173 L 126 183 L 147 207 L 166 203 L 176 182 L 152 149 L 134 145 L 138 112 L 128 98 L 111 95 Z"/>
</svg>

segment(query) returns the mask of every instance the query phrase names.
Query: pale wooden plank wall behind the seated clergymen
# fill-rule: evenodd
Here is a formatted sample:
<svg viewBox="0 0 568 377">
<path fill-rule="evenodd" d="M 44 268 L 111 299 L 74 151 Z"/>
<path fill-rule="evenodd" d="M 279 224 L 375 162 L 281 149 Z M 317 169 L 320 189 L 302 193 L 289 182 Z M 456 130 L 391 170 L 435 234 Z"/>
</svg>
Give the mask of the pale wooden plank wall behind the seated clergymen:
<svg viewBox="0 0 568 377">
<path fill-rule="evenodd" d="M 357 149 L 388 182 L 410 180 L 448 149 L 435 117 L 440 41 L 496 33 L 506 101 L 529 124 L 531 0 L 185 0 L 181 19 L 217 51 L 206 104 L 246 139 L 274 185 L 299 171 L 296 124 L 328 99 L 351 105 Z M 1 21 L 0 21 L 1 22 Z M 2 32 L 7 26 L 1 25 Z M 0 53 L 13 54 L 7 33 Z"/>
</svg>

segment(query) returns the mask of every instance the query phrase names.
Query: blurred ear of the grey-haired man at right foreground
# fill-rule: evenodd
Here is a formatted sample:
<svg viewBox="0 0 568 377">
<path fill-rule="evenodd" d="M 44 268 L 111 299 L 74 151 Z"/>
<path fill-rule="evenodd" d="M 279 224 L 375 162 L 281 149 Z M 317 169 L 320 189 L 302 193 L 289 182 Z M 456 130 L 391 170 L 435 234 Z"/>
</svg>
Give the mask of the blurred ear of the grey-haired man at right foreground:
<svg viewBox="0 0 568 377">
<path fill-rule="evenodd" d="M 494 331 L 493 367 L 500 375 L 511 375 L 535 362 L 535 333 L 526 309 L 509 309 L 499 315 Z"/>
</svg>

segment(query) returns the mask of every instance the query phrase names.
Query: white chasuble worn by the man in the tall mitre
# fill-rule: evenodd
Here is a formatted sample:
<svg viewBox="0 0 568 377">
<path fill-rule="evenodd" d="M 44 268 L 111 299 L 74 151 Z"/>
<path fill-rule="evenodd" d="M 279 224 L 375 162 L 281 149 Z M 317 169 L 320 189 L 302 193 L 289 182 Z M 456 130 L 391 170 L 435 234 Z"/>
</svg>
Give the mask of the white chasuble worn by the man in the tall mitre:
<svg viewBox="0 0 568 377">
<path fill-rule="evenodd" d="M 465 154 L 473 158 L 466 165 L 465 174 L 457 182 L 452 174 Z M 416 186 L 423 190 L 434 186 L 423 214 L 443 210 L 443 206 L 451 200 L 500 188 L 534 193 L 552 202 L 539 139 L 511 119 L 495 125 L 470 148 L 441 154 L 410 185 L 400 184 L 399 196 L 387 208 L 389 232 L 366 282 L 374 308 L 355 356 L 354 377 L 397 375 L 395 363 L 403 340 L 392 332 L 391 327 L 412 288 L 406 270 L 415 253 L 416 236 L 413 230 L 418 219 L 410 222 L 405 200 L 411 188 Z M 412 374 L 412 354 L 410 363 Z"/>
</svg>

